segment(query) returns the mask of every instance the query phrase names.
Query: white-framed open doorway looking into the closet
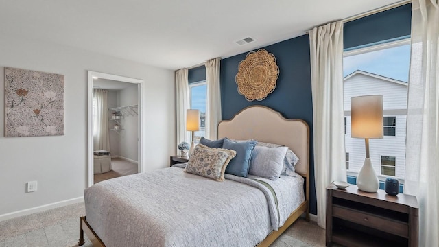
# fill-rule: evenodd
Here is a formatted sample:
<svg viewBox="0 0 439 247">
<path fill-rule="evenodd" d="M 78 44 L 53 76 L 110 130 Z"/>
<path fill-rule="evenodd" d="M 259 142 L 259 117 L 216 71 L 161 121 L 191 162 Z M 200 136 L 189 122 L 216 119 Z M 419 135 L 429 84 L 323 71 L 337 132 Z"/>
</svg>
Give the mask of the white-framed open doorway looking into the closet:
<svg viewBox="0 0 439 247">
<path fill-rule="evenodd" d="M 95 117 L 99 108 L 94 95 L 98 91 L 106 92 L 103 126 L 97 124 L 99 119 Z M 100 180 L 142 172 L 143 95 L 143 80 L 88 71 L 88 187 Z M 102 147 L 100 141 L 96 141 L 95 132 L 99 127 L 107 130 L 108 145 L 104 147 L 111 147 L 110 152 L 97 148 Z M 101 155 L 94 155 L 97 151 Z"/>
</svg>

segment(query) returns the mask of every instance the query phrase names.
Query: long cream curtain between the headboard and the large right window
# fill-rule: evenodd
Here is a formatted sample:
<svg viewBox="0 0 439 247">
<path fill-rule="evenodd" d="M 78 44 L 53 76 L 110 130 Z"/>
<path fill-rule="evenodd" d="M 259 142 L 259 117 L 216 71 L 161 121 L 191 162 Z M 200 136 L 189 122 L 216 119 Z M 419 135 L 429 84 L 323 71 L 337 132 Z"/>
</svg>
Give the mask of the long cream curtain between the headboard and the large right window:
<svg viewBox="0 0 439 247">
<path fill-rule="evenodd" d="M 325 228 L 326 187 L 333 180 L 346 181 L 342 21 L 315 27 L 309 44 L 317 223 Z"/>
</svg>

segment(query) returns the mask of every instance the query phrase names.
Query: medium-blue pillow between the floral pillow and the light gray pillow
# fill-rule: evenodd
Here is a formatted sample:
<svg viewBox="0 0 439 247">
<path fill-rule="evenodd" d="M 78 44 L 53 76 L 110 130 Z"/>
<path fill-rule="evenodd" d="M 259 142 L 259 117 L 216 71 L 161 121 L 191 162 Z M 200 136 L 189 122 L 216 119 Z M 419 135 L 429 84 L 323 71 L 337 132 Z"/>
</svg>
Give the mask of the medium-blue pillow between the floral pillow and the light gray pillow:
<svg viewBox="0 0 439 247">
<path fill-rule="evenodd" d="M 255 140 L 235 142 L 224 138 L 222 148 L 236 151 L 235 158 L 233 158 L 226 167 L 226 174 L 246 178 L 248 176 L 248 167 L 250 167 L 250 158 L 252 157 L 253 148 L 257 143 L 258 141 Z"/>
</svg>

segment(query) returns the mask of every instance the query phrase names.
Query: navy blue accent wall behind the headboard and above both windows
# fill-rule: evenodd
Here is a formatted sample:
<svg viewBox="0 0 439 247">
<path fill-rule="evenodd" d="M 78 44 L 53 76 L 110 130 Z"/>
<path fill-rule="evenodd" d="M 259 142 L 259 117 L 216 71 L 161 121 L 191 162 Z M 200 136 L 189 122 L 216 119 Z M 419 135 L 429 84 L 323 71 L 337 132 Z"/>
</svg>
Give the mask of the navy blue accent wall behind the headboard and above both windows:
<svg viewBox="0 0 439 247">
<path fill-rule="evenodd" d="M 410 35 L 410 21 L 410 4 L 350 21 L 344 25 L 344 48 L 359 47 Z M 238 64 L 246 58 L 248 52 L 222 59 L 220 69 L 222 119 L 231 119 L 236 113 L 247 106 L 263 105 L 280 112 L 283 117 L 304 119 L 307 122 L 311 135 L 309 211 L 316 214 L 309 36 L 299 36 L 263 47 L 263 49 L 274 54 L 277 60 L 280 73 L 276 89 L 261 102 L 248 102 L 244 96 L 239 95 L 237 92 L 237 84 L 235 82 Z M 204 66 L 189 70 L 189 83 L 202 80 L 206 80 L 206 69 Z"/>
</svg>

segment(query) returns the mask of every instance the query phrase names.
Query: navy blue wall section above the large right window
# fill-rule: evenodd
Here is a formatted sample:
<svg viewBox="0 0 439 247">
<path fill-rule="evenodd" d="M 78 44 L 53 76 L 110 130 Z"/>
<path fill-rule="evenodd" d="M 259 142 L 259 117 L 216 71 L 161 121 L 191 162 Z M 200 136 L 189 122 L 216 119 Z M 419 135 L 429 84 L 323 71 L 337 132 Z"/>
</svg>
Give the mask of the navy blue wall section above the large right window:
<svg viewBox="0 0 439 247">
<path fill-rule="evenodd" d="M 410 36 L 412 4 L 344 23 L 344 49 Z"/>
</svg>

